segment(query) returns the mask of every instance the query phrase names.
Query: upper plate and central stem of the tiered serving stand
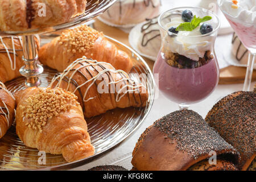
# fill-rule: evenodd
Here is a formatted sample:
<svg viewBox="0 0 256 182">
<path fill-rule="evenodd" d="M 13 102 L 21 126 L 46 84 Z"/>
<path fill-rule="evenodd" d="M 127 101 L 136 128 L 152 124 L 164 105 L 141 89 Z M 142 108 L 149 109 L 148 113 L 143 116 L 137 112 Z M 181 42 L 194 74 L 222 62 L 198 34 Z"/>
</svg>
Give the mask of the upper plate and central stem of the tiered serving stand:
<svg viewBox="0 0 256 182">
<path fill-rule="evenodd" d="M 22 36 L 24 66 L 19 71 L 22 76 L 26 77 L 24 84 L 27 87 L 39 86 L 41 84 L 39 75 L 43 73 L 43 67 L 37 64 L 38 55 L 36 53 L 35 35 L 59 31 L 88 22 L 104 13 L 115 1 L 117 0 L 88 0 L 84 14 L 56 26 L 39 27 L 27 31 L 0 31 L 0 36 Z"/>
</svg>

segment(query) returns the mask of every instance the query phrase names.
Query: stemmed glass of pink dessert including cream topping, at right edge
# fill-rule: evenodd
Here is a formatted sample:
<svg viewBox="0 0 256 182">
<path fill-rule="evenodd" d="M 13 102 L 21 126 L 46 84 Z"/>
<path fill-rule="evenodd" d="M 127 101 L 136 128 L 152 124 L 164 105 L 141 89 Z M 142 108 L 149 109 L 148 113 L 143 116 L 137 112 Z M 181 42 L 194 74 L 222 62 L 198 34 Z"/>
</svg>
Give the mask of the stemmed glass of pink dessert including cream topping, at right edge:
<svg viewBox="0 0 256 182">
<path fill-rule="evenodd" d="M 251 77 L 253 76 L 253 65 L 256 57 L 256 23 L 255 19 L 251 19 L 250 22 L 248 19 L 240 18 L 245 17 L 245 14 L 251 14 L 253 16 L 253 8 L 251 10 L 244 9 L 242 6 L 238 7 L 233 4 L 232 1 L 225 2 L 225 0 L 218 0 L 218 6 L 220 6 L 221 11 L 228 19 L 230 25 L 236 32 L 238 38 L 240 38 L 243 45 L 249 50 L 249 57 L 245 75 L 245 82 L 243 84 L 243 91 L 249 91 L 251 85 Z M 232 7 L 233 5 L 233 7 Z M 236 7 L 238 7 L 236 9 Z M 254 14 L 256 12 L 254 11 Z"/>
</svg>

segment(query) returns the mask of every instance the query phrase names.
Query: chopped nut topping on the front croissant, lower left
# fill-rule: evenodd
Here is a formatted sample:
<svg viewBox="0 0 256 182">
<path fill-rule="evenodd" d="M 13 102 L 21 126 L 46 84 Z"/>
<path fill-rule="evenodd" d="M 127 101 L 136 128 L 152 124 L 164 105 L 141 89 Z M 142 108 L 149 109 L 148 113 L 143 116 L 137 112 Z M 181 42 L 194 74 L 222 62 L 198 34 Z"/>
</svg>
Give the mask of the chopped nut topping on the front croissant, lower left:
<svg viewBox="0 0 256 182">
<path fill-rule="evenodd" d="M 42 132 L 47 120 L 57 117 L 61 111 L 71 109 L 72 105 L 79 105 L 77 96 L 71 92 L 64 92 L 63 89 L 40 89 L 38 93 L 28 97 L 26 106 L 20 105 L 22 117 L 30 119 L 25 125 L 34 130 Z"/>
</svg>

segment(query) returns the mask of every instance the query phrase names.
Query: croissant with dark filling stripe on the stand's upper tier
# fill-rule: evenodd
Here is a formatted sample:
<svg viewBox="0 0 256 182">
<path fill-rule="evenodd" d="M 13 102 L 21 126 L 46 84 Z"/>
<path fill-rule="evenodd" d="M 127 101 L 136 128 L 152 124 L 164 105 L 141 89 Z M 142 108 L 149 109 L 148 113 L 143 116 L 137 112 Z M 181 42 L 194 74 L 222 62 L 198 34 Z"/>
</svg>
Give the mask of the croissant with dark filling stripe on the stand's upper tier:
<svg viewBox="0 0 256 182">
<path fill-rule="evenodd" d="M 84 13 L 86 0 L 1 0 L 0 30 L 24 31 L 67 22 Z"/>
</svg>

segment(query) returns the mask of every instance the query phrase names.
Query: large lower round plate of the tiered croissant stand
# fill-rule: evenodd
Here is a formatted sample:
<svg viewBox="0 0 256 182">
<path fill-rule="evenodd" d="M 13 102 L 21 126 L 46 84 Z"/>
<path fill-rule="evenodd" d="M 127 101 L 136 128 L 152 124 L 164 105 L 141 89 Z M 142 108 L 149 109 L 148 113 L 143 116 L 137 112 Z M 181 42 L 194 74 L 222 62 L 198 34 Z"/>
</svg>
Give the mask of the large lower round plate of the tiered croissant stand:
<svg viewBox="0 0 256 182">
<path fill-rule="evenodd" d="M 95 154 L 89 158 L 85 158 L 73 163 L 65 162 L 62 155 L 46 154 L 46 164 L 42 164 L 40 153 L 35 148 L 26 147 L 18 138 L 15 132 L 15 124 L 11 126 L 7 134 L 0 139 L 0 169 L 69 169 L 79 167 L 83 164 L 91 162 L 99 154 L 104 155 L 110 148 L 117 146 L 120 142 L 131 135 L 147 117 L 154 101 L 155 82 L 152 72 L 141 56 L 133 49 L 124 44 L 107 37 L 115 45 L 127 52 L 133 60 L 134 67 L 131 73 L 144 73 L 141 77 L 146 83 L 149 98 L 146 107 L 126 109 L 114 109 L 105 114 L 93 118 L 86 118 L 88 124 L 88 132 L 90 134 L 92 144 L 95 148 Z M 52 77 L 57 71 L 44 68 L 44 73 L 40 75 L 42 81 L 41 86 L 48 86 Z M 133 77 L 133 79 L 139 79 Z M 7 89 L 12 93 L 25 89 L 24 77 L 16 78 L 6 83 Z M 104 152 L 104 154 L 102 154 Z"/>
</svg>

